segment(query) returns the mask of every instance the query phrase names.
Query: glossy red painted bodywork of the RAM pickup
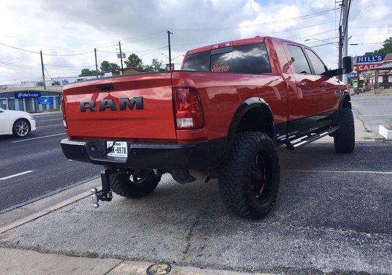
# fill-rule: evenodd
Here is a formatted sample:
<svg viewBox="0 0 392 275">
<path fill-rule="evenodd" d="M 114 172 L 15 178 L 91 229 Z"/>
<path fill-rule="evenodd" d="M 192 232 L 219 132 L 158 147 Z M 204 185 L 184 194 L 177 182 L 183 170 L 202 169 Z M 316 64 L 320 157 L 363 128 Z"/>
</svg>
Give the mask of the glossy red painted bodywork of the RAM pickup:
<svg viewBox="0 0 392 275">
<path fill-rule="evenodd" d="M 340 97 L 334 91 L 347 89 L 336 78 L 312 74 L 293 74 L 286 44 L 290 41 L 257 37 L 233 41 L 266 44 L 272 72 L 268 74 L 233 74 L 224 72 L 174 71 L 91 80 L 67 85 L 63 89 L 67 135 L 72 139 L 122 138 L 160 142 L 194 142 L 227 136 L 233 115 L 248 98 L 263 98 L 273 111 L 275 124 L 306 118 L 338 109 Z M 211 50 L 200 47 L 187 52 Z M 301 47 L 305 47 L 301 45 Z M 186 56 L 185 56 L 186 58 Z M 184 60 L 185 60 L 184 58 Z M 301 82 L 307 85 L 299 87 Z M 100 91 L 97 85 L 111 84 L 113 90 Z M 204 127 L 176 130 L 173 87 L 193 87 L 198 91 L 203 109 Z M 144 109 L 125 111 L 80 111 L 80 101 L 143 97 Z"/>
</svg>

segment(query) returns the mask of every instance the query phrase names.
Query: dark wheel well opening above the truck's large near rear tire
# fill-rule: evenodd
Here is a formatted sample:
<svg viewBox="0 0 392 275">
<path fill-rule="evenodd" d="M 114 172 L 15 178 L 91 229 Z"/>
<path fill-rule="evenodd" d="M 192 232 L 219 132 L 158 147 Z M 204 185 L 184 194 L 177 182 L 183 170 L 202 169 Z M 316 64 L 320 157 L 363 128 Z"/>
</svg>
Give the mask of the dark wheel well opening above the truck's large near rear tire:
<svg viewBox="0 0 392 275">
<path fill-rule="evenodd" d="M 257 107 L 245 113 L 235 133 L 262 132 L 273 138 L 273 131 L 273 118 L 270 112 L 267 112 L 262 107 Z"/>
</svg>

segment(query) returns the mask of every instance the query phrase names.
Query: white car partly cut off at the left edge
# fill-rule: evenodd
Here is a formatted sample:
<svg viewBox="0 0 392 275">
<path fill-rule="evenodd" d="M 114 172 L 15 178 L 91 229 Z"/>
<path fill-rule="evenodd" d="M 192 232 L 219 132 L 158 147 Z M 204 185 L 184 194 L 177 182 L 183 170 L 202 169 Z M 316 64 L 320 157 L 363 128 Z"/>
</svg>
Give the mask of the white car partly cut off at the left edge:
<svg viewBox="0 0 392 275">
<path fill-rule="evenodd" d="M 36 129 L 36 121 L 30 113 L 0 108 L 0 135 L 25 137 Z"/>
</svg>

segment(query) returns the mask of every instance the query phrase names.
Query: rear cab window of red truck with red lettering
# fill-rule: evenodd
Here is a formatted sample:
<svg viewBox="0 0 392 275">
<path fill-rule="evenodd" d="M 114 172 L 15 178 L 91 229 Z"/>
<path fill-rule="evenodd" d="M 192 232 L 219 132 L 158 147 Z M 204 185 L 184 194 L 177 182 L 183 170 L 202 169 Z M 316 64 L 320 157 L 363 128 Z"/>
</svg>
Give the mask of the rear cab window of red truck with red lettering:
<svg viewBox="0 0 392 275">
<path fill-rule="evenodd" d="M 251 43 L 190 54 L 183 70 L 265 74 L 271 72 L 271 67 L 266 45 Z"/>
</svg>

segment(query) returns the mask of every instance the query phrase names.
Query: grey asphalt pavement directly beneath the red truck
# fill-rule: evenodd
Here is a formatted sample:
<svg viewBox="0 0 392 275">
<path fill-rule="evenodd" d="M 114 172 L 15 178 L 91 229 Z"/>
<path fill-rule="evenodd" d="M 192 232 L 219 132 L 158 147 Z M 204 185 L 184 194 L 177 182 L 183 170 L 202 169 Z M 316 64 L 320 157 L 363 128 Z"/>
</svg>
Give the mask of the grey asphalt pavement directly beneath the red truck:
<svg viewBox="0 0 392 275">
<path fill-rule="evenodd" d="M 0 246 L 73 256 L 278 274 L 392 273 L 391 142 L 279 148 L 277 203 L 262 221 L 227 215 L 216 180 L 165 176 L 152 195 L 93 209 L 82 199 L 6 232 Z"/>
</svg>

